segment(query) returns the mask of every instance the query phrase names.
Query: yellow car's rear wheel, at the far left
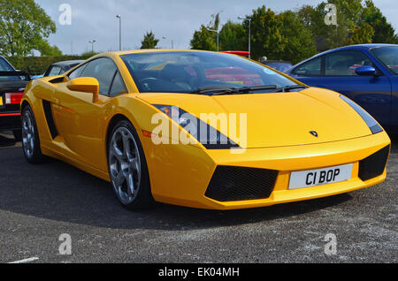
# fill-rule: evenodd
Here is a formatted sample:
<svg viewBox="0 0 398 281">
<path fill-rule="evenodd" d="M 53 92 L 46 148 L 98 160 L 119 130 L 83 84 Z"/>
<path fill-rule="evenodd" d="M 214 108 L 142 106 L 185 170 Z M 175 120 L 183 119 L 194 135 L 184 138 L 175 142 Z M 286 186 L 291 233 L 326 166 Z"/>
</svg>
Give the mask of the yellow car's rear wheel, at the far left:
<svg viewBox="0 0 398 281">
<path fill-rule="evenodd" d="M 28 125 L 27 118 L 30 118 L 30 124 Z M 43 163 L 46 159 L 42 155 L 42 149 L 40 148 L 40 138 L 37 131 L 36 120 L 34 113 L 29 105 L 24 107 L 21 114 L 22 119 L 22 148 L 24 155 L 27 158 L 28 163 Z M 28 128 L 29 127 L 29 128 Z"/>
</svg>

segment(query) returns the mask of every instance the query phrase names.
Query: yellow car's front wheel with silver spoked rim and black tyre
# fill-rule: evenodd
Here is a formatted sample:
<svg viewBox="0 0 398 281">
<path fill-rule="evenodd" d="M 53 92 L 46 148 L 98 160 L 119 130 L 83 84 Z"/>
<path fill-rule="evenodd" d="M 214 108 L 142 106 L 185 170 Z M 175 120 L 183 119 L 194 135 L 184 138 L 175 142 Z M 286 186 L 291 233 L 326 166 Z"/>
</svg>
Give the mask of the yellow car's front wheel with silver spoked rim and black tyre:
<svg viewBox="0 0 398 281">
<path fill-rule="evenodd" d="M 125 139 L 123 138 L 125 134 L 129 143 L 128 147 L 131 151 L 129 154 L 126 154 L 126 156 L 125 152 L 123 152 L 123 156 L 120 156 L 119 154 L 116 156 L 116 150 L 114 149 L 115 143 L 117 143 L 116 145 L 119 152 L 127 149 L 125 148 Z M 131 140 L 130 138 L 134 138 L 134 140 Z M 134 150 L 131 148 L 134 148 Z M 135 151 L 138 151 L 138 156 Z M 138 161 L 136 159 L 138 159 Z M 149 171 L 142 143 L 134 126 L 127 120 L 119 121 L 119 123 L 112 128 L 111 134 L 109 135 L 108 171 L 110 173 L 113 191 L 123 207 L 130 210 L 149 209 L 153 205 L 154 200 L 150 190 Z M 126 173 L 124 171 L 126 171 Z M 119 177 L 121 173 L 124 175 Z M 129 178 L 129 176 L 131 176 L 131 178 Z M 124 179 L 119 179 L 118 181 L 117 178 Z M 127 178 L 130 179 L 130 181 Z M 119 185 L 117 182 L 119 182 Z M 129 185 L 127 182 L 133 182 L 133 184 Z M 132 192 L 132 188 L 129 186 L 134 186 L 136 188 L 133 188 L 134 192 Z M 124 193 L 124 189 L 126 189 L 126 196 L 123 197 L 121 194 Z M 128 194 L 129 191 L 130 194 Z"/>
</svg>

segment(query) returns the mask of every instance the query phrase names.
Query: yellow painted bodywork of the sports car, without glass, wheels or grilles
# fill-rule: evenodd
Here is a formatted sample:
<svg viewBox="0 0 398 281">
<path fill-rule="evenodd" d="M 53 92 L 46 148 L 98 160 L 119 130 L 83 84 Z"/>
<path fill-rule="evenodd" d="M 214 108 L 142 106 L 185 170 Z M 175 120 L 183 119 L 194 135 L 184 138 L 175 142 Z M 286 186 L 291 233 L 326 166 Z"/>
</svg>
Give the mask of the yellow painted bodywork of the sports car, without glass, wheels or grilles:
<svg viewBox="0 0 398 281">
<path fill-rule="evenodd" d="M 385 132 L 372 134 L 364 120 L 339 94 L 315 87 L 301 92 L 264 95 L 140 94 L 120 56 L 157 51 L 160 50 L 111 52 L 91 58 L 113 60 L 126 84 L 129 93 L 126 95 L 99 95 L 93 102 L 93 95 L 67 87 L 68 74 L 74 69 L 62 76 L 31 81 L 21 104 L 22 107 L 29 104 L 34 112 L 42 153 L 110 181 L 107 160 L 110 124 L 113 118 L 124 117 L 134 125 L 142 142 L 154 199 L 202 209 L 245 209 L 310 200 L 373 186 L 386 178 L 386 171 L 367 181 L 358 178 L 359 162 L 389 146 L 390 139 Z M 51 82 L 54 80 L 57 83 Z M 43 100 L 51 104 L 58 131 L 55 139 L 51 137 Z M 230 150 L 206 149 L 192 136 L 193 144 L 189 145 L 155 145 L 143 133 L 152 132 L 157 126 L 151 119 L 160 111 L 151 104 L 178 106 L 197 118 L 205 112 L 247 114 L 248 141 L 246 146 L 241 145 L 244 152 L 232 154 Z M 164 118 L 183 131 L 174 121 Z M 230 137 L 222 127 L 217 129 Z M 310 135 L 312 130 L 319 133 L 318 138 Z M 233 141 L 241 144 L 238 139 Z M 288 188 L 292 171 L 346 163 L 354 165 L 348 181 L 295 190 Z M 219 165 L 278 171 L 270 198 L 222 202 L 206 197 L 210 179 Z"/>
</svg>

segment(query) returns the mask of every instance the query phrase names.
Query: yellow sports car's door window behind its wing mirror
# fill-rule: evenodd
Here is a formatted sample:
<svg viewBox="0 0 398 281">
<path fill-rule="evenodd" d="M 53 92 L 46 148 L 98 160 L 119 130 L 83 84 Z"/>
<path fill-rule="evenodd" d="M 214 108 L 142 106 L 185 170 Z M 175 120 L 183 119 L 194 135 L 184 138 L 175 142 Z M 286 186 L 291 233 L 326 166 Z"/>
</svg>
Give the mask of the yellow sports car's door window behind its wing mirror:
<svg viewBox="0 0 398 281">
<path fill-rule="evenodd" d="M 110 58 L 97 58 L 88 63 L 80 77 L 93 77 L 98 80 L 99 94 L 108 95 L 115 72 L 118 69 Z"/>
</svg>

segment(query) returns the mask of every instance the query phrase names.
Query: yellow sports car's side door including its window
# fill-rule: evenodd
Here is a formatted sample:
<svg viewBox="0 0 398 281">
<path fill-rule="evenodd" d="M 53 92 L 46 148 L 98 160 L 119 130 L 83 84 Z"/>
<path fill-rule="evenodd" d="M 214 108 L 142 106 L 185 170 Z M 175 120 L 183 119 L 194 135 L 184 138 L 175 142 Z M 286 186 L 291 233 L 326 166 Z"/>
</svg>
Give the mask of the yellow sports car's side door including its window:
<svg viewBox="0 0 398 281">
<path fill-rule="evenodd" d="M 100 120 L 103 120 L 104 106 L 111 98 L 110 89 L 118 69 L 107 57 L 92 60 L 83 67 L 82 70 L 72 72 L 69 78 L 96 78 L 99 83 L 98 101 L 93 103 L 93 95 L 88 93 L 69 90 L 65 83 L 56 93 L 57 127 L 60 128 L 60 134 L 71 156 L 100 170 L 106 170 L 106 167 L 96 166 L 103 162 L 101 159 L 105 155 L 102 147 L 104 128 Z"/>
</svg>

